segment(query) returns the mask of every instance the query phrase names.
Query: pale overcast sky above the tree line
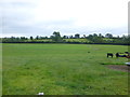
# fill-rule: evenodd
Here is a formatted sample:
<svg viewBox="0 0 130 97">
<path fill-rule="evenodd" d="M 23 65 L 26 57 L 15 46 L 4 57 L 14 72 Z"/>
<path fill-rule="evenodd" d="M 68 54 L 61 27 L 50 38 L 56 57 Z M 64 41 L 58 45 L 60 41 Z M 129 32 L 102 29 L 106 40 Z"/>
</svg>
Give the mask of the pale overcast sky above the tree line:
<svg viewBox="0 0 130 97">
<path fill-rule="evenodd" d="M 129 0 L 0 0 L 0 37 L 128 34 Z"/>
</svg>

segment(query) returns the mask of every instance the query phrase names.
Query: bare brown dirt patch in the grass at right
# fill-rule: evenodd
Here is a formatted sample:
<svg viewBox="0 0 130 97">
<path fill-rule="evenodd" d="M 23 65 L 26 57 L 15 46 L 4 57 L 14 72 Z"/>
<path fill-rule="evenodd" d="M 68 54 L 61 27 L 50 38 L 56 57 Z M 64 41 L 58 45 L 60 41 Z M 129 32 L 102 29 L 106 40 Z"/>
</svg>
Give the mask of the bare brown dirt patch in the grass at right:
<svg viewBox="0 0 130 97">
<path fill-rule="evenodd" d="M 120 70 L 125 72 L 130 72 L 130 66 L 125 66 L 125 65 L 107 65 L 109 69 L 115 69 L 115 70 Z"/>
</svg>

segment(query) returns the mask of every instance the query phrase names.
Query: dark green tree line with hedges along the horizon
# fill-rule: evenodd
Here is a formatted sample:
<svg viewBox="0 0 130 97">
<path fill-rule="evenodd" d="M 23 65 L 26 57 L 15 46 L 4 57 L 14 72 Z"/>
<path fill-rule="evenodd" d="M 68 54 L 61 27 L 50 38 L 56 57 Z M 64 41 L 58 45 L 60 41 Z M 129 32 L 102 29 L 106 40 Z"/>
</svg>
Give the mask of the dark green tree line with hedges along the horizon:
<svg viewBox="0 0 130 97">
<path fill-rule="evenodd" d="M 11 37 L 0 38 L 2 43 L 89 43 L 89 44 L 130 44 L 130 36 L 114 37 L 112 33 L 93 33 L 80 37 L 79 33 L 75 36 L 63 36 L 58 31 L 54 31 L 50 37 Z M 82 41 L 83 40 L 83 41 Z"/>
</svg>

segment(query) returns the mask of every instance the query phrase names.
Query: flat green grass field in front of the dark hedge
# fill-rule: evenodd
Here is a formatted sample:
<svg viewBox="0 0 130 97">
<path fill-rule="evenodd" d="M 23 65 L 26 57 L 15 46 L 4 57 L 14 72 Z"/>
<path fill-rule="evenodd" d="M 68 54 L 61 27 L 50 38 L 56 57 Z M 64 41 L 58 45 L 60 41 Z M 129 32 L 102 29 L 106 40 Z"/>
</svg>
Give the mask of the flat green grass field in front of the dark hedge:
<svg viewBox="0 0 130 97">
<path fill-rule="evenodd" d="M 125 45 L 3 44 L 3 95 L 128 95 L 128 72 L 108 69 Z M 90 52 L 90 53 L 89 53 Z M 104 65 L 103 65 L 104 64 Z"/>
</svg>

